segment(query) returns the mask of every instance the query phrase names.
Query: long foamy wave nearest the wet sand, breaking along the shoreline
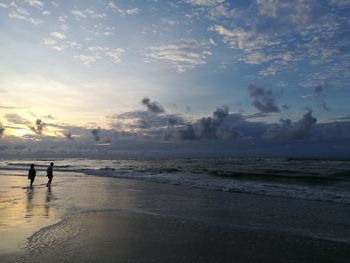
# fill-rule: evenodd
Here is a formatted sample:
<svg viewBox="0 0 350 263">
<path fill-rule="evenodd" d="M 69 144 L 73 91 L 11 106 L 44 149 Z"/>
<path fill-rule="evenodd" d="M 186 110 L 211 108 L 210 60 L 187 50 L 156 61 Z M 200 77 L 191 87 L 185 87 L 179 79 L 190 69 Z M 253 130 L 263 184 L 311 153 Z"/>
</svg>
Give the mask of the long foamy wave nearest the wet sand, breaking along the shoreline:
<svg viewBox="0 0 350 263">
<path fill-rule="evenodd" d="M 82 172 L 87 175 L 94 176 L 137 179 L 149 182 L 183 185 L 193 188 L 202 188 L 225 192 L 283 196 L 305 200 L 329 201 L 350 204 L 349 192 L 317 189 L 314 187 L 300 185 L 242 181 L 228 178 L 218 178 L 210 175 L 179 173 L 143 174 L 128 171 L 118 171 L 113 168 L 102 168 L 98 170 L 84 169 Z"/>
</svg>

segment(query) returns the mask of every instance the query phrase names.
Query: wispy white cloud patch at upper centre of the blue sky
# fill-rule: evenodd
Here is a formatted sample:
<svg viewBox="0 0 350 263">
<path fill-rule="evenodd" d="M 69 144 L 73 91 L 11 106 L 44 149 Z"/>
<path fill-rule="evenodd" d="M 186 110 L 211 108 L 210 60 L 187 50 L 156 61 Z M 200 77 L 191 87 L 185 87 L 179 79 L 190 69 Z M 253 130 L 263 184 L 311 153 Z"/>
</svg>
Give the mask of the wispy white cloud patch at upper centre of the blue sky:
<svg viewBox="0 0 350 263">
<path fill-rule="evenodd" d="M 183 39 L 169 45 L 150 47 L 145 57 L 147 62 L 168 62 L 178 73 L 183 73 L 198 65 L 206 64 L 207 58 L 212 54 L 210 52 L 212 45 L 215 45 L 212 39 L 206 41 Z"/>
</svg>

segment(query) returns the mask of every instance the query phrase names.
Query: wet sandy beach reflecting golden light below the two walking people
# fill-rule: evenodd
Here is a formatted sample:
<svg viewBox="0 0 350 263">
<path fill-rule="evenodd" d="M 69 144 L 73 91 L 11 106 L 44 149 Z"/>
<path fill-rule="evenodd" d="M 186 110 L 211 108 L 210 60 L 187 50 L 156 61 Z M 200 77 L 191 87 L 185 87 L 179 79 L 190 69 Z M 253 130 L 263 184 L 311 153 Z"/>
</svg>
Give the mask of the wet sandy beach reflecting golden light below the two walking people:
<svg viewBox="0 0 350 263">
<path fill-rule="evenodd" d="M 348 204 L 79 173 L 56 174 L 51 190 L 45 182 L 38 176 L 27 189 L 24 176 L 0 176 L 1 262 L 347 262 L 350 255 Z"/>
</svg>

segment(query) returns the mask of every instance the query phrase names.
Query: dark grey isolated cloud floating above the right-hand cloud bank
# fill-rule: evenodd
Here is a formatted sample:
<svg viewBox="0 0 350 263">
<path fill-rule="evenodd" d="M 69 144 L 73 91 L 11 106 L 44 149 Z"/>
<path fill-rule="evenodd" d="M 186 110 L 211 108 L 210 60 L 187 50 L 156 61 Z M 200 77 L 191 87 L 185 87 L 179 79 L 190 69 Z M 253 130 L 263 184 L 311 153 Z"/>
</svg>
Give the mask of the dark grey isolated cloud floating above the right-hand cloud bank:
<svg viewBox="0 0 350 263">
<path fill-rule="evenodd" d="M 249 85 L 249 95 L 253 99 L 252 105 L 264 113 L 279 112 L 276 105 L 276 96 L 271 90 L 266 90 L 256 85 Z"/>
</svg>

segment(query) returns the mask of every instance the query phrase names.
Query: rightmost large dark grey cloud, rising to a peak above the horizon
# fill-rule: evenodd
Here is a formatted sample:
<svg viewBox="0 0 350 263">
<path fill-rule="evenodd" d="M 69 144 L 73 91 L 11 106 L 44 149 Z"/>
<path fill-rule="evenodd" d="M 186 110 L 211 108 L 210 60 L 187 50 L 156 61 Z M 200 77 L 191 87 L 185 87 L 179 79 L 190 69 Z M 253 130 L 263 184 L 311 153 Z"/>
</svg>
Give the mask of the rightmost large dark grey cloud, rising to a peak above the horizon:
<svg viewBox="0 0 350 263">
<path fill-rule="evenodd" d="M 270 125 L 265 135 L 270 139 L 303 139 L 316 122 L 310 110 L 295 123 L 290 119 L 281 119 L 279 124 Z"/>
</svg>

